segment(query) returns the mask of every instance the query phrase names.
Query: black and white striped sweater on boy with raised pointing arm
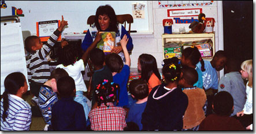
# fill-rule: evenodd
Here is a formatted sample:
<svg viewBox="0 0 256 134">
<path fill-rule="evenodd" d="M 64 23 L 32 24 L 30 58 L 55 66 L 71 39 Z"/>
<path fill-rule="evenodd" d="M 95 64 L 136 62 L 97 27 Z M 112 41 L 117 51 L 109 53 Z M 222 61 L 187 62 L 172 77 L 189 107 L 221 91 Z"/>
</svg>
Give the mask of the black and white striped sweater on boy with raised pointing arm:
<svg viewBox="0 0 256 134">
<path fill-rule="evenodd" d="M 35 81 L 36 83 L 43 84 L 50 78 L 51 72 L 46 55 L 49 54 L 51 47 L 54 46 L 58 36 L 60 35 L 58 29 L 53 32 L 46 44 L 42 48 L 36 50 L 35 53 L 29 55 L 27 60 L 28 82 Z"/>
</svg>

